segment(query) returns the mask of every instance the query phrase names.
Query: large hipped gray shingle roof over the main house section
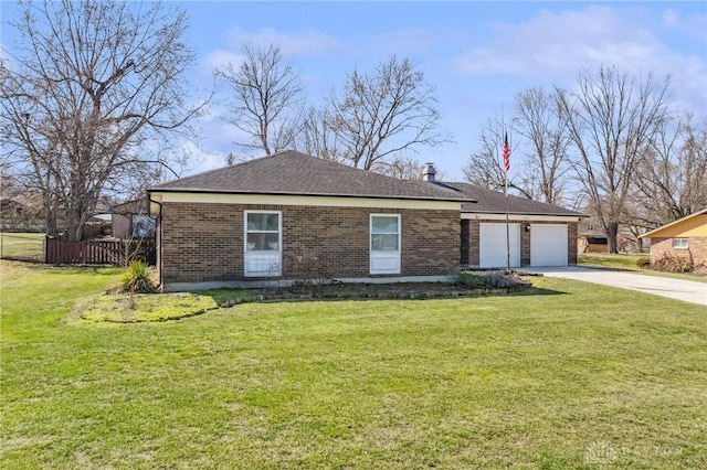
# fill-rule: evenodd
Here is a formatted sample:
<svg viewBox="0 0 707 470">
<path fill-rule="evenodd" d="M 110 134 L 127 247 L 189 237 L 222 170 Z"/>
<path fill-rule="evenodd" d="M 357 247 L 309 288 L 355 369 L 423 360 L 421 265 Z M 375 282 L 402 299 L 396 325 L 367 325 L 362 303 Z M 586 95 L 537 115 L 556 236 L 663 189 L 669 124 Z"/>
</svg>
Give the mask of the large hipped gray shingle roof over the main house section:
<svg viewBox="0 0 707 470">
<path fill-rule="evenodd" d="M 148 191 L 471 201 L 450 188 L 398 180 L 291 150 L 169 181 Z"/>
</svg>

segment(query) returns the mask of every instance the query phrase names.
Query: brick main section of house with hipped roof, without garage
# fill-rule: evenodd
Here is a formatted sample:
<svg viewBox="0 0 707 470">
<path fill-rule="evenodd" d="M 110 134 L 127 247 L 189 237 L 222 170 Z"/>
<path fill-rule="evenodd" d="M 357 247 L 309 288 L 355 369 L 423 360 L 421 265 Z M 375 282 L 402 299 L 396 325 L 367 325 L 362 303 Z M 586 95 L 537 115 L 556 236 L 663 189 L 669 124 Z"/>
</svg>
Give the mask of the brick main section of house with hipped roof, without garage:
<svg viewBox="0 0 707 470">
<path fill-rule="evenodd" d="M 294 151 L 160 184 L 148 197 L 163 290 L 312 275 L 441 280 L 458 271 L 462 204 L 472 202 Z"/>
</svg>

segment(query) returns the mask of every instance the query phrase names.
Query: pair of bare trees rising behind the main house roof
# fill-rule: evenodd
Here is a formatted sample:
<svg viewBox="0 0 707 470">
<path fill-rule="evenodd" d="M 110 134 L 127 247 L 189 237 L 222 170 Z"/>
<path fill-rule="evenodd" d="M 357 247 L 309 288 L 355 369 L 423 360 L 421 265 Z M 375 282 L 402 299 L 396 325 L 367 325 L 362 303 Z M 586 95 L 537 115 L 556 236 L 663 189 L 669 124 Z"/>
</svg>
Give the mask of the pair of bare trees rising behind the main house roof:
<svg viewBox="0 0 707 470">
<path fill-rule="evenodd" d="M 450 140 L 437 129 L 435 88 L 419 65 L 392 55 L 373 71 L 354 70 L 319 106 L 306 105 L 299 74 L 278 46 L 245 43 L 240 64 L 214 75 L 229 90 L 224 120 L 244 139 L 234 142 L 247 158 L 294 148 L 323 159 L 398 178 L 416 178 L 420 148 Z M 238 160 L 232 156 L 231 161 Z"/>
</svg>

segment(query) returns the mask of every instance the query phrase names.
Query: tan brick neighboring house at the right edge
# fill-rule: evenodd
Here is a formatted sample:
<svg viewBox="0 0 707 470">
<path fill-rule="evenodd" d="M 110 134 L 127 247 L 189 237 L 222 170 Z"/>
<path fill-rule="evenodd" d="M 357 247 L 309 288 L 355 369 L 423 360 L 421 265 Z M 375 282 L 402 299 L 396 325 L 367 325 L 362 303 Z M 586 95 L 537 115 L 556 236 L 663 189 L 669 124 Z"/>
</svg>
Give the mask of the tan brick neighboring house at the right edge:
<svg viewBox="0 0 707 470">
<path fill-rule="evenodd" d="M 651 239 L 651 264 L 661 258 L 692 257 L 694 266 L 707 267 L 707 209 L 645 233 Z"/>
</svg>

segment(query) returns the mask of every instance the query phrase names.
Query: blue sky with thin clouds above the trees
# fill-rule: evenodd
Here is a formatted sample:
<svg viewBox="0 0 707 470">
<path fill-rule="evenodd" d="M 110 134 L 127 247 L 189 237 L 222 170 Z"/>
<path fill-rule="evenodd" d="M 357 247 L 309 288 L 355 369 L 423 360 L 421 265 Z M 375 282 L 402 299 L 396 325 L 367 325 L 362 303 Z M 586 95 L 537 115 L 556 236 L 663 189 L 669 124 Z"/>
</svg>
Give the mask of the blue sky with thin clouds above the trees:
<svg viewBox="0 0 707 470">
<path fill-rule="evenodd" d="M 275 43 L 319 103 L 354 67 L 370 70 L 389 54 L 415 60 L 437 89 L 441 129 L 455 142 L 422 149 L 450 180 L 494 115 L 513 113 L 529 86 L 571 87 L 582 68 L 618 65 L 673 78 L 673 103 L 707 115 L 707 2 L 179 2 L 191 17 L 198 52 L 194 87 L 214 65 L 238 63 L 243 41 Z M 3 20 L 12 4 L 2 3 Z M 9 45 L 2 32 L 3 45 Z M 204 118 L 200 163 L 224 164 L 235 130 L 220 120 L 222 100 Z M 518 159 L 521 156 L 517 156 Z"/>
</svg>

